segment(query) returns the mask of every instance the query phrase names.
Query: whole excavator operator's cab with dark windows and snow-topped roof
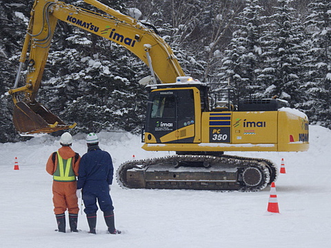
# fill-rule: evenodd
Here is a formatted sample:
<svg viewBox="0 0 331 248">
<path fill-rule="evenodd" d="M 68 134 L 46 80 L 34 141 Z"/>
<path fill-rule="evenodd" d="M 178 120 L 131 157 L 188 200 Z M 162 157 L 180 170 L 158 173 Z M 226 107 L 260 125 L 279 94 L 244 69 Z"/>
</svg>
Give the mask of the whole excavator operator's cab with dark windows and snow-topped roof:
<svg viewBox="0 0 331 248">
<path fill-rule="evenodd" d="M 199 142 L 201 108 L 207 105 L 201 94 L 206 86 L 200 82 L 168 83 L 150 85 L 148 90 L 146 143 Z"/>
</svg>

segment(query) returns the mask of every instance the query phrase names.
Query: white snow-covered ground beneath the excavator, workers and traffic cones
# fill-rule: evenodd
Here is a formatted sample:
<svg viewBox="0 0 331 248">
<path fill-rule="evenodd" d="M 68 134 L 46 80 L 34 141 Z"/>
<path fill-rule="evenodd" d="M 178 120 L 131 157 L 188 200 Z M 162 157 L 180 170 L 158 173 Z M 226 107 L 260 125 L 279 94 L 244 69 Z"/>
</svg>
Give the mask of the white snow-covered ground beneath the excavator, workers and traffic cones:
<svg viewBox="0 0 331 248">
<path fill-rule="evenodd" d="M 167 155 L 146 152 L 140 136 L 99 134 L 100 147 L 112 155 L 115 170 L 124 161 Z M 73 149 L 86 152 L 85 136 L 74 136 Z M 267 211 L 270 187 L 261 192 L 122 189 L 114 180 L 112 199 L 121 235 L 106 234 L 98 211 L 97 235 L 88 234 L 79 213 L 80 233 L 58 233 L 52 206 L 52 176 L 45 165 L 59 148 L 50 135 L 0 144 L 1 247 L 330 247 L 331 130 L 310 126 L 308 152 L 245 152 L 269 158 L 286 174 L 276 182 L 280 214 Z M 14 170 L 17 157 L 19 170 Z M 80 203 L 79 203 L 80 204 Z M 68 223 L 67 223 L 68 229 Z"/>
</svg>

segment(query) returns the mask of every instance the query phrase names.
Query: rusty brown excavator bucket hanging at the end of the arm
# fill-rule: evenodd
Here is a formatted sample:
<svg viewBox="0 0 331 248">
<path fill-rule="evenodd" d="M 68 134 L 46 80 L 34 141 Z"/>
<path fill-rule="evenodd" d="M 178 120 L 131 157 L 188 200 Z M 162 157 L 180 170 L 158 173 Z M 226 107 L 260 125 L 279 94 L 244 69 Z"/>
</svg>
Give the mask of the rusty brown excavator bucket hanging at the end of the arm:
<svg viewBox="0 0 331 248">
<path fill-rule="evenodd" d="M 66 125 L 40 103 L 15 103 L 12 121 L 21 134 L 51 133 L 76 126 Z"/>
</svg>

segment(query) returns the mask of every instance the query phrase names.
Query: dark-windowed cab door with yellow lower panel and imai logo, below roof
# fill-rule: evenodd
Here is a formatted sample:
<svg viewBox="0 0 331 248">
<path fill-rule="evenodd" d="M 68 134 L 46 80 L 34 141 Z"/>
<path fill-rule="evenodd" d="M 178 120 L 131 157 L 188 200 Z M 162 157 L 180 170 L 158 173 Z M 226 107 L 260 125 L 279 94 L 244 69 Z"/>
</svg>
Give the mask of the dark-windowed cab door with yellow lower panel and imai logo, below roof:
<svg viewBox="0 0 331 248">
<path fill-rule="evenodd" d="M 195 123 L 193 90 L 154 90 L 150 93 L 146 117 L 146 143 L 192 142 Z"/>
</svg>

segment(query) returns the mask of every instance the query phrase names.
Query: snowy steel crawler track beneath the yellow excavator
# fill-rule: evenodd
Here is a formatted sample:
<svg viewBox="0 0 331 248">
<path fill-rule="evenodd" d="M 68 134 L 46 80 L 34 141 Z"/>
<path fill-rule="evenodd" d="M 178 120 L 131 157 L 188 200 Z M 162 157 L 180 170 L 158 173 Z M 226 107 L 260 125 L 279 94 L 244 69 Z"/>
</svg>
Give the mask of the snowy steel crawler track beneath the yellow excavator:
<svg viewBox="0 0 331 248">
<path fill-rule="evenodd" d="M 174 155 L 128 161 L 117 181 L 130 189 L 197 189 L 256 192 L 277 178 L 277 166 L 263 158 Z"/>
</svg>

